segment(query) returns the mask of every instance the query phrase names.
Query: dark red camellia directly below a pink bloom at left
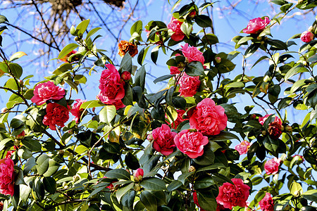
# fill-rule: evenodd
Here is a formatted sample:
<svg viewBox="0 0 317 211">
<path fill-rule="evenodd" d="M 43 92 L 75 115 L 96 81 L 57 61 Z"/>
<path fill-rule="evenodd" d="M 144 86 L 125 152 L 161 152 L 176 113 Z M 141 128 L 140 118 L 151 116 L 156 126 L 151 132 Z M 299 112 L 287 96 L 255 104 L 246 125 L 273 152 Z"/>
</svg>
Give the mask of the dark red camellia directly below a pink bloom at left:
<svg viewBox="0 0 317 211">
<path fill-rule="evenodd" d="M 46 107 L 46 115 L 43 124 L 49 126 L 49 129 L 56 130 L 56 125 L 64 127 L 65 122 L 69 119 L 70 107 L 65 108 L 57 103 L 49 103 Z"/>
</svg>

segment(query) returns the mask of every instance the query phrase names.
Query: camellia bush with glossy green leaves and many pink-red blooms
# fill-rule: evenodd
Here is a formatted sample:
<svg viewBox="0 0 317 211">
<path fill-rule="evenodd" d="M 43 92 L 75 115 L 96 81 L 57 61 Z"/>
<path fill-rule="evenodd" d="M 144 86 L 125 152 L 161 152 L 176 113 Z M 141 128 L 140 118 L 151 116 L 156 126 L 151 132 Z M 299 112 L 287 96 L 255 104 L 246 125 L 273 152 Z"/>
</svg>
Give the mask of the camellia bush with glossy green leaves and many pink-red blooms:
<svg viewBox="0 0 317 211">
<path fill-rule="evenodd" d="M 100 28 L 83 20 L 70 28 L 75 41 L 59 53 L 61 65 L 31 85 L 18 64 L 25 53 L 6 58 L 1 49 L 0 89 L 11 96 L 0 115 L 0 208 L 316 210 L 317 23 L 288 41 L 271 34 L 313 2 L 273 1 L 280 13 L 254 17 L 233 37 L 235 51 L 215 53 L 204 13 L 213 3 L 175 11 L 178 1 L 168 25 L 132 25 L 120 64 L 99 49 Z M 8 31 L 3 15 L 0 23 Z M 156 63 L 159 52 L 170 74 L 154 80 L 165 89 L 149 93 L 144 59 Z M 267 71 L 247 75 L 247 60 Z M 93 71 L 98 91 L 74 98 Z M 244 110 L 231 103 L 238 96 L 250 102 Z M 291 107 L 303 122 L 287 119 Z"/>
</svg>

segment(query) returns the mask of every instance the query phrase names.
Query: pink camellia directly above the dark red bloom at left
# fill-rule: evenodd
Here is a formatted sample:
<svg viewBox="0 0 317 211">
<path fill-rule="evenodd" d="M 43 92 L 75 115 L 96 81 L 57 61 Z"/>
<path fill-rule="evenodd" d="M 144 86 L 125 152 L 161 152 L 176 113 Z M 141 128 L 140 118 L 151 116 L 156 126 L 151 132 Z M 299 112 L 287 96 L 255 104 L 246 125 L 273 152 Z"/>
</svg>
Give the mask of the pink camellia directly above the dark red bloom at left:
<svg viewBox="0 0 317 211">
<path fill-rule="evenodd" d="M 48 100 L 60 100 L 64 97 L 65 90 L 57 87 L 53 82 L 44 82 L 37 84 L 33 93 L 34 96 L 31 98 L 32 103 L 41 106 Z"/>
</svg>

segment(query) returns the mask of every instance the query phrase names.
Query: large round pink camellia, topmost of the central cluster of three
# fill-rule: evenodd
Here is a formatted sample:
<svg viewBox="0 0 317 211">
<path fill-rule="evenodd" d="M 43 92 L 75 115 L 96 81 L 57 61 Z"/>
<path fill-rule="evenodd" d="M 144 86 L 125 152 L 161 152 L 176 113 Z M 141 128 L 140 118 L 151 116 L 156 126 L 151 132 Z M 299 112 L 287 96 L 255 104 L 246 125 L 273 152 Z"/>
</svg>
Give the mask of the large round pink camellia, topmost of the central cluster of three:
<svg viewBox="0 0 317 211">
<path fill-rule="evenodd" d="M 199 130 L 206 136 L 215 136 L 227 127 L 228 117 L 225 115 L 225 109 L 216 106 L 211 98 L 204 98 L 194 108 L 189 117 L 190 128 Z"/>
</svg>

